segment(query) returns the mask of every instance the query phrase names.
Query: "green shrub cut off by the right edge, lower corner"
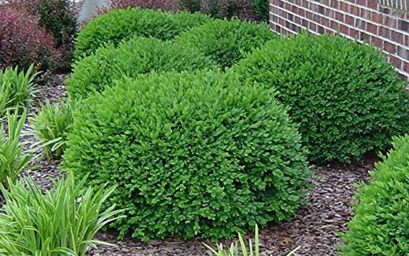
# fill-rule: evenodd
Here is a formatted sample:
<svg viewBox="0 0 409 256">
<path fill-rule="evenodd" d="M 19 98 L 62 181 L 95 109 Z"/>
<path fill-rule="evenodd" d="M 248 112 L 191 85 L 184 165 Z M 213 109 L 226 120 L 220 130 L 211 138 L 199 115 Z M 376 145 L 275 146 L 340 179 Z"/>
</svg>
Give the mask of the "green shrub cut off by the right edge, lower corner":
<svg viewBox="0 0 409 256">
<path fill-rule="evenodd" d="M 393 139 L 394 150 L 361 183 L 355 217 L 343 235 L 345 255 L 409 254 L 409 135 Z"/>
</svg>

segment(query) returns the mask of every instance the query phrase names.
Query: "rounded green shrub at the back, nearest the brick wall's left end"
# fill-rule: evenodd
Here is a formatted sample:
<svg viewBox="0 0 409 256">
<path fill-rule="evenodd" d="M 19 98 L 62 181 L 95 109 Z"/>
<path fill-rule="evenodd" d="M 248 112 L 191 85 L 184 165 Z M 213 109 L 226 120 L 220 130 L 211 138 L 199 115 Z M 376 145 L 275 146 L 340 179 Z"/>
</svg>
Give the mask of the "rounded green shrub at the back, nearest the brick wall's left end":
<svg viewBox="0 0 409 256">
<path fill-rule="evenodd" d="M 181 34 L 175 40 L 201 49 L 221 67 L 230 67 L 254 48 L 276 37 L 267 26 L 239 19 L 217 19 Z"/>
</svg>

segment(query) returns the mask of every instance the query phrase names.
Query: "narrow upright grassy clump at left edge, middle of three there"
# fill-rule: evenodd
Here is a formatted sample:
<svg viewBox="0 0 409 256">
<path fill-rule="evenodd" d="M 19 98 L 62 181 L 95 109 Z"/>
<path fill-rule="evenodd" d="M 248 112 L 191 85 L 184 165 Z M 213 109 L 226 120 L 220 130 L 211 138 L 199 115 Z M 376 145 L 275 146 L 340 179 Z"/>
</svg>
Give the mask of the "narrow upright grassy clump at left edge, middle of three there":
<svg viewBox="0 0 409 256">
<path fill-rule="evenodd" d="M 6 187 L 16 181 L 18 174 L 32 158 L 31 153 L 23 152 L 24 144 L 19 142 L 27 111 L 24 110 L 21 117 L 18 117 L 18 111 L 13 112 L 10 114 L 7 111 L 8 135 L 5 134 L 4 124 L 0 124 L 0 184 Z"/>
</svg>

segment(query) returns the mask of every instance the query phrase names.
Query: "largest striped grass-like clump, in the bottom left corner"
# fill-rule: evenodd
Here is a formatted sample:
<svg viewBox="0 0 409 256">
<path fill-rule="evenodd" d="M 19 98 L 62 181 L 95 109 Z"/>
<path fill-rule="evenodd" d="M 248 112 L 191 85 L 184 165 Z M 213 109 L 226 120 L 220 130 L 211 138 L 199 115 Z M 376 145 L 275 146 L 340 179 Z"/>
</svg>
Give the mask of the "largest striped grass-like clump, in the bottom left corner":
<svg viewBox="0 0 409 256">
<path fill-rule="evenodd" d="M 94 235 L 107 223 L 124 217 L 119 216 L 123 210 L 112 206 L 101 211 L 115 187 L 84 188 L 84 182 L 75 182 L 68 174 L 42 194 L 25 177 L 9 189 L 2 188 L 6 204 L 0 214 L 0 253 L 75 256 L 85 255 L 88 246 L 102 244 Z"/>
</svg>

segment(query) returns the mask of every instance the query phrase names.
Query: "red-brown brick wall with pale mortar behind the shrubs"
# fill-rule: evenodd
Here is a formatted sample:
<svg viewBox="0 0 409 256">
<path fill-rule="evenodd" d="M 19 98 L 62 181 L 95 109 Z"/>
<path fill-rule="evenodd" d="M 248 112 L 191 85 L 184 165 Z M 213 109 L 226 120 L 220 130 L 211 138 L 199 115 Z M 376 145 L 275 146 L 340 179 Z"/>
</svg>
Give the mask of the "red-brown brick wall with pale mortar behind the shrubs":
<svg viewBox="0 0 409 256">
<path fill-rule="evenodd" d="M 339 32 L 375 45 L 409 80 L 409 12 L 376 0 L 270 0 L 270 28 L 279 34 Z"/>
</svg>

